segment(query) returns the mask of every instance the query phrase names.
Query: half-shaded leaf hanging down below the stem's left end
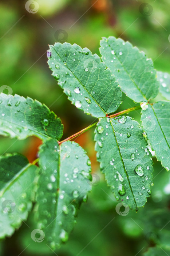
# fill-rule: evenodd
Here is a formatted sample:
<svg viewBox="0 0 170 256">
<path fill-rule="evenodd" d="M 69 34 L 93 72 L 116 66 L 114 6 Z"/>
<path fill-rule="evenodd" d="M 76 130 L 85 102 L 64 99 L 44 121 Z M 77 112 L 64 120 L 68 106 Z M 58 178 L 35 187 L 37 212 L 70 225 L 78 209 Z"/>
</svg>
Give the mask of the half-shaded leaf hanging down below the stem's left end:
<svg viewBox="0 0 170 256">
<path fill-rule="evenodd" d="M 48 244 L 55 249 L 67 241 L 77 210 L 91 190 L 90 160 L 77 143 L 68 141 L 59 146 L 53 139 L 41 146 L 39 157 L 37 227 L 44 231 Z"/>
</svg>

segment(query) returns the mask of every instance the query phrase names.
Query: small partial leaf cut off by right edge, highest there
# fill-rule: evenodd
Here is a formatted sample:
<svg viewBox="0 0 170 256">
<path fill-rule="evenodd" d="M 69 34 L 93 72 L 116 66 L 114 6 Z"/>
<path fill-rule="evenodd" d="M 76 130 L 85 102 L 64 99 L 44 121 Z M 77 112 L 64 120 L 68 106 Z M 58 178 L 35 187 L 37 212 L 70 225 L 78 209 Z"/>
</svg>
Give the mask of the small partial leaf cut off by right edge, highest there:
<svg viewBox="0 0 170 256">
<path fill-rule="evenodd" d="M 157 79 L 160 83 L 159 91 L 170 101 L 170 74 L 157 71 Z"/>
</svg>

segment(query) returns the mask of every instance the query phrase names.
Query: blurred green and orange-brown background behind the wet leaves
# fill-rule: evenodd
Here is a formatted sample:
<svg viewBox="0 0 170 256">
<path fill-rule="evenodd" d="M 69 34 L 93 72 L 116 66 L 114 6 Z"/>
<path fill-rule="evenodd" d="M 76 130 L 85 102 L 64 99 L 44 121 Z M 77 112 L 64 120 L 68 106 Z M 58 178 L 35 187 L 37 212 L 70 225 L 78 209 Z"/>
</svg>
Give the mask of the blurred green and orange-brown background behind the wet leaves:
<svg viewBox="0 0 170 256">
<path fill-rule="evenodd" d="M 100 39 L 114 35 L 143 50 L 153 59 L 156 69 L 170 72 L 169 0 L 149 0 L 145 8 L 139 0 L 37 0 L 26 8 L 25 3 L 19 0 L 0 3 L 0 87 L 7 85 L 13 95 L 29 96 L 45 103 L 62 119 L 63 139 L 96 120 L 71 105 L 51 76 L 46 56 L 48 44 L 67 41 L 99 54 Z M 157 99 L 162 99 L 161 95 Z M 118 111 L 134 105 L 123 95 Z M 139 113 L 132 112 L 129 116 L 140 123 Z M 137 213 L 130 211 L 120 216 L 115 211 L 118 202 L 96 163 L 93 132 L 91 129 L 75 139 L 92 161 L 94 180 L 89 200 L 82 205 L 67 244 L 52 252 L 43 242 L 32 241 L 29 217 L 29 227 L 23 223 L 11 238 L 0 242 L 0 255 L 136 256 L 146 253 L 166 256 L 167 246 L 170 248 L 170 174 L 153 157 L 151 198 Z M 34 137 L 23 141 L 0 137 L 0 154 L 20 152 L 33 161 L 40 143 Z M 154 252 L 155 245 L 157 252 Z"/>
</svg>

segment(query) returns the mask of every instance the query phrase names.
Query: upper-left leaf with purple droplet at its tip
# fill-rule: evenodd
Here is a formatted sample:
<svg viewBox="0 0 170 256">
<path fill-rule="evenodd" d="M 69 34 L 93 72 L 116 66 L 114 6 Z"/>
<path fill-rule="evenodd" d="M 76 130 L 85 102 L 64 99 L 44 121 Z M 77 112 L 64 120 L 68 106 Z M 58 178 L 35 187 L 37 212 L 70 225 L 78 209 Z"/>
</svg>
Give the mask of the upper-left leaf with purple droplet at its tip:
<svg viewBox="0 0 170 256">
<path fill-rule="evenodd" d="M 95 117 L 118 109 L 122 91 L 97 54 L 76 44 L 55 43 L 47 55 L 52 75 L 77 108 Z"/>
</svg>

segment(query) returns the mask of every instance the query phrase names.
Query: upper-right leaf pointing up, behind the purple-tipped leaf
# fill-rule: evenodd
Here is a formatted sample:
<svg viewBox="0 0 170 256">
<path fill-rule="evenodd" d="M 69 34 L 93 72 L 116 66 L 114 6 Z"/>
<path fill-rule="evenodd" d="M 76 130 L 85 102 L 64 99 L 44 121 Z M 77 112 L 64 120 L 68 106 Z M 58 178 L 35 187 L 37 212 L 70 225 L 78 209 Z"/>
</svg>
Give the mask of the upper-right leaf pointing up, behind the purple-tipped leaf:
<svg viewBox="0 0 170 256">
<path fill-rule="evenodd" d="M 156 70 L 144 52 L 115 37 L 103 38 L 100 45 L 102 60 L 129 98 L 141 102 L 157 96 L 159 83 Z"/>
</svg>

